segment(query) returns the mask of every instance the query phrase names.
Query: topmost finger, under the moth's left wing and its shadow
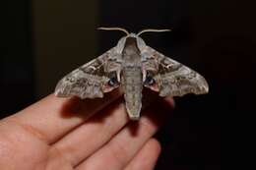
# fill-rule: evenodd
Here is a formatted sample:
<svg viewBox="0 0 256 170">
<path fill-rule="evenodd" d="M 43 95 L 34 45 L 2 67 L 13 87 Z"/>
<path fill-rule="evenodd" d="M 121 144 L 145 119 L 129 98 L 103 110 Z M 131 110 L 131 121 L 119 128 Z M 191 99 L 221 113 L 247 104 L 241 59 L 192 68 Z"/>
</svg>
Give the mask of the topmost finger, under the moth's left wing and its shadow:
<svg viewBox="0 0 256 170">
<path fill-rule="evenodd" d="M 59 98 L 51 94 L 4 121 L 9 126 L 18 126 L 34 137 L 52 143 L 120 95 L 121 93 L 115 90 L 103 98 L 81 100 L 77 97 Z"/>
</svg>

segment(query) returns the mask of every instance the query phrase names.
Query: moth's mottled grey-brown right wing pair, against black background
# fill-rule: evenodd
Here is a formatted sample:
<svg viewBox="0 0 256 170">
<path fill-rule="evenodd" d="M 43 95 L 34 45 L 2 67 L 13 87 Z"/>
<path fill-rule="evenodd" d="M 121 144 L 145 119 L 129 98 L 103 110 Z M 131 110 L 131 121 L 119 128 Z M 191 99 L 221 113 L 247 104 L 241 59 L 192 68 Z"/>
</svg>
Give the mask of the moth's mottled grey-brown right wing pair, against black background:
<svg viewBox="0 0 256 170">
<path fill-rule="evenodd" d="M 206 80 L 190 68 L 146 46 L 142 51 L 145 68 L 144 85 L 160 91 L 160 96 L 203 94 L 209 90 Z"/>
</svg>

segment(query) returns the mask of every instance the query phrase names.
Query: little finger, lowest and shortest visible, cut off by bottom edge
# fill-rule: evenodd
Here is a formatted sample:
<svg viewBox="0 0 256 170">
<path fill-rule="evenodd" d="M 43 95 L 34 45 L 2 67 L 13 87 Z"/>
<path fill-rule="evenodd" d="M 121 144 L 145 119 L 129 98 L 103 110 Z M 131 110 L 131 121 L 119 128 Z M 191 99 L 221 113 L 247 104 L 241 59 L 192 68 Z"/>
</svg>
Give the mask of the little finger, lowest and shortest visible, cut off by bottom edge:
<svg viewBox="0 0 256 170">
<path fill-rule="evenodd" d="M 160 142 L 151 139 L 142 147 L 124 170 L 153 170 L 160 156 Z"/>
</svg>

